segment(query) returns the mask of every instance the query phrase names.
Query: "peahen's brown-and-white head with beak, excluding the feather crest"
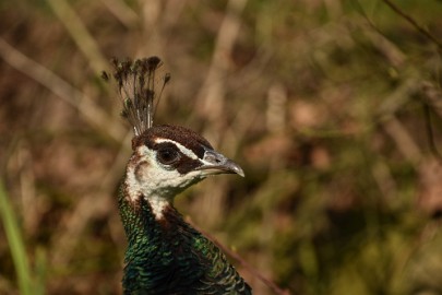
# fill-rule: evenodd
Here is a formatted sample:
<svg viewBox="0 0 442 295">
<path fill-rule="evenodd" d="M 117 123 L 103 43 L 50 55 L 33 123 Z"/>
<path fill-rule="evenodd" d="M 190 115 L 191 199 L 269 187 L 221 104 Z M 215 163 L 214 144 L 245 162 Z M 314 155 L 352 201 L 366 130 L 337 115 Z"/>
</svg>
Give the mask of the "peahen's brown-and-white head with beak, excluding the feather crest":
<svg viewBox="0 0 442 295">
<path fill-rule="evenodd" d="M 155 126 L 132 141 L 127 185 L 133 199 L 169 203 L 186 188 L 217 174 L 244 176 L 241 167 L 183 127 Z M 135 200 L 133 200 L 135 201 Z"/>
</svg>

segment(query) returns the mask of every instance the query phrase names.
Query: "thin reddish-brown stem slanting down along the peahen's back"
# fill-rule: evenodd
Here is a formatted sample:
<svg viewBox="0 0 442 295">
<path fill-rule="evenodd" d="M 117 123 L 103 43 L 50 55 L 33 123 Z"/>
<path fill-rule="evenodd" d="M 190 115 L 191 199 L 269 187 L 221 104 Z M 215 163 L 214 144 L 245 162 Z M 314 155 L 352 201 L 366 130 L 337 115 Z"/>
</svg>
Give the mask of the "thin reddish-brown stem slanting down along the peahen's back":
<svg viewBox="0 0 442 295">
<path fill-rule="evenodd" d="M 207 232 L 199 228 L 195 224 L 192 223 L 192 221 L 190 219 L 188 219 L 188 222 L 191 223 L 192 226 L 195 227 L 196 231 L 201 232 L 205 237 L 207 237 L 210 240 L 212 240 L 219 249 L 222 249 L 223 252 L 227 253 L 229 257 L 237 260 L 253 276 L 258 278 L 258 280 L 260 280 L 265 285 L 267 285 L 275 294 L 290 295 L 290 292 L 288 290 L 283 290 L 279 286 L 277 286 L 274 282 L 266 279 L 263 274 L 261 274 L 260 271 L 258 271 L 255 268 L 253 268 L 251 264 L 249 264 L 249 262 L 247 262 L 240 255 L 238 255 L 236 251 L 232 251 L 230 248 L 224 246 L 219 240 L 217 240 L 214 236 L 212 236 Z"/>
</svg>

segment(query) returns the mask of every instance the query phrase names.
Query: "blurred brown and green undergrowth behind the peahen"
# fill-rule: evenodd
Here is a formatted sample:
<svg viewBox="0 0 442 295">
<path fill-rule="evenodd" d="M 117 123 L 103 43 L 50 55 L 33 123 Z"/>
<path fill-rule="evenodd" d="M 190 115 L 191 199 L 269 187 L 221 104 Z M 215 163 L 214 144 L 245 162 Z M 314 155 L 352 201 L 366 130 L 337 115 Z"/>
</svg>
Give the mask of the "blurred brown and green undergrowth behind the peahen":
<svg viewBox="0 0 442 295">
<path fill-rule="evenodd" d="M 0 294 L 121 293 L 132 131 L 99 76 L 152 55 L 156 123 L 246 172 L 176 205 L 255 294 L 442 294 L 442 1 L 391 1 L 2 0 Z"/>
</svg>

